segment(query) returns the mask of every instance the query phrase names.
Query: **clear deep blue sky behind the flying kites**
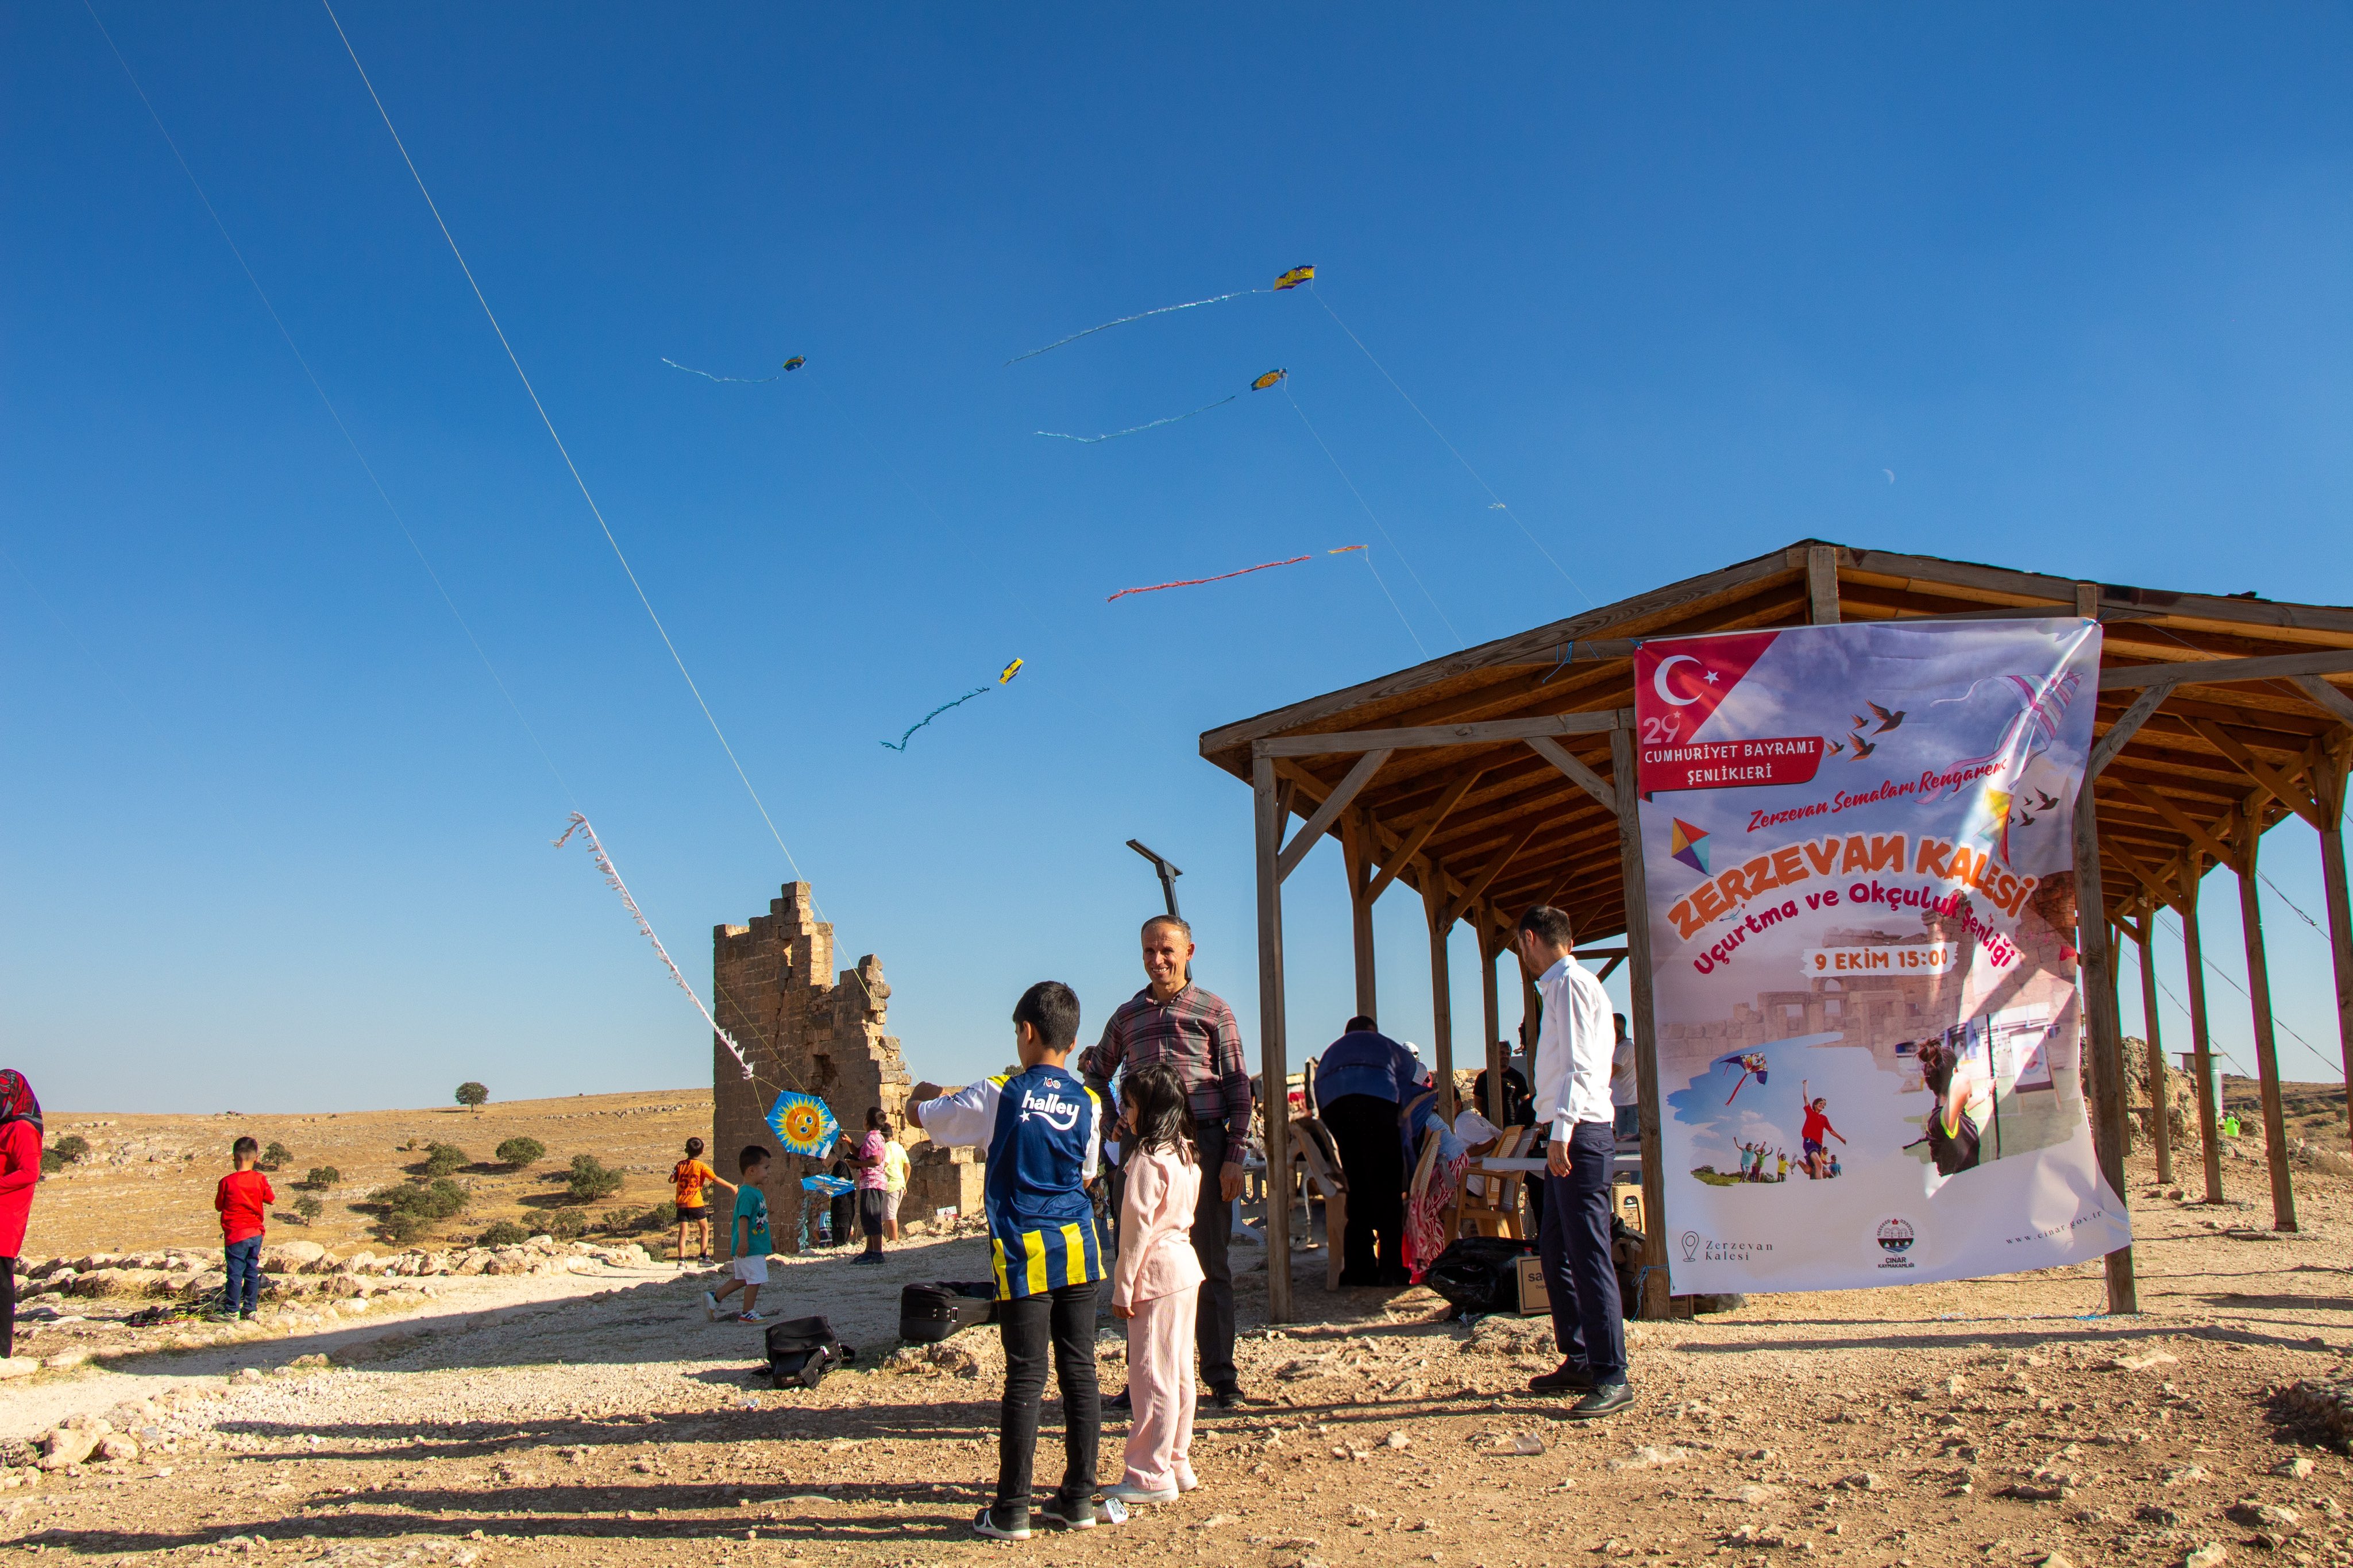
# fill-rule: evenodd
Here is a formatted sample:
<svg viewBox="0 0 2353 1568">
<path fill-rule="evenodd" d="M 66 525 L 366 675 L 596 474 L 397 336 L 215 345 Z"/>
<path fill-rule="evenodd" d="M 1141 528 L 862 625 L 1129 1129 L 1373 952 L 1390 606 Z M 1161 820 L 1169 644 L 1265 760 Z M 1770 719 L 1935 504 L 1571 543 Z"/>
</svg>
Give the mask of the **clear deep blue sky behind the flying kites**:
<svg viewBox="0 0 2353 1568">
<path fill-rule="evenodd" d="M 565 783 L 92 16 L 12 7 L 7 1058 L 73 1110 L 704 1081 L 685 997 L 548 839 L 576 799 L 699 985 L 711 926 L 791 872 L 325 12 L 99 14 Z M 1078 985 L 1089 1030 L 1141 983 L 1158 891 L 1129 835 L 1186 867 L 1200 978 L 1254 1044 L 1249 802 L 1198 731 L 1417 637 L 1800 536 L 2353 602 L 2341 7 L 353 0 L 344 24 L 932 1077 L 1005 1060 L 1028 980 Z M 1301 261 L 1574 585 L 1304 294 L 1002 364 Z M 793 353 L 772 386 L 661 362 Z M 1282 393 L 1033 435 L 1273 367 L 1386 536 Z M 1104 604 L 1365 541 L 1398 609 L 1322 555 Z M 1005 691 L 878 745 L 1014 656 Z M 2311 832 L 2268 844 L 2318 914 Z M 2226 882 L 2207 910 L 2235 973 Z M 2334 1056 L 2322 940 L 2275 898 L 2271 931 L 2282 1020 Z M 1384 1023 L 1428 1039 L 1409 898 L 1381 943 Z M 1289 945 L 1311 1046 L 1351 994 L 1337 849 L 1292 882 Z M 2292 1039 L 2282 1067 L 2322 1074 Z"/>
</svg>

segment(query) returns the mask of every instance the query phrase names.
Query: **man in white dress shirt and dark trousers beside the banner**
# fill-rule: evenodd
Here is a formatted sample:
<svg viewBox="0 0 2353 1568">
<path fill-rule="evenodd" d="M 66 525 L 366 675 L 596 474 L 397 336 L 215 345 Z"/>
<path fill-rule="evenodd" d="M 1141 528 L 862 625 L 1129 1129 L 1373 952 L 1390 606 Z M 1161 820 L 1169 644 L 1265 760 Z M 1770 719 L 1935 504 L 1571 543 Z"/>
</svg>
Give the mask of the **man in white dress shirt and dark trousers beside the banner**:
<svg viewBox="0 0 2353 1568">
<path fill-rule="evenodd" d="M 1553 1300 L 1560 1366 L 1529 1378 L 1534 1394 L 1579 1394 L 1577 1420 L 1617 1415 L 1626 1389 L 1626 1321 L 1609 1260 L 1609 997 L 1572 957 L 1569 917 L 1539 905 L 1520 917 L 1520 966 L 1537 980 L 1544 1025 L 1537 1032 L 1537 1126 L 1546 1128 L 1544 1288 Z"/>
</svg>

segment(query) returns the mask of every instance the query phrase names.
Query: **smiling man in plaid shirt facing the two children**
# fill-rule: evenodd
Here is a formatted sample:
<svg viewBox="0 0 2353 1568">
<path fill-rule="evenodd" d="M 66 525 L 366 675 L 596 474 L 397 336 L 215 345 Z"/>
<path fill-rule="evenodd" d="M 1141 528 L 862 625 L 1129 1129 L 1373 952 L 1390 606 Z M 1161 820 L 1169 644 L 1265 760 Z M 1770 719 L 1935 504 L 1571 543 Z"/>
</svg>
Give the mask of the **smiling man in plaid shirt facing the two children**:
<svg viewBox="0 0 2353 1568">
<path fill-rule="evenodd" d="M 1080 1077 L 1108 1081 L 1120 1067 L 1167 1063 L 1184 1079 L 1193 1103 L 1200 1164 L 1219 1173 L 1200 1185 L 1193 1211 L 1193 1253 L 1200 1258 L 1200 1380 L 1219 1410 L 1249 1403 L 1233 1371 L 1233 1199 L 1242 1197 L 1242 1140 L 1249 1135 L 1249 1063 L 1233 1009 L 1193 985 L 1193 926 L 1174 914 L 1144 922 L 1144 978 L 1148 985 L 1120 1004 L 1104 1025 L 1104 1039 L 1078 1058 Z"/>
</svg>

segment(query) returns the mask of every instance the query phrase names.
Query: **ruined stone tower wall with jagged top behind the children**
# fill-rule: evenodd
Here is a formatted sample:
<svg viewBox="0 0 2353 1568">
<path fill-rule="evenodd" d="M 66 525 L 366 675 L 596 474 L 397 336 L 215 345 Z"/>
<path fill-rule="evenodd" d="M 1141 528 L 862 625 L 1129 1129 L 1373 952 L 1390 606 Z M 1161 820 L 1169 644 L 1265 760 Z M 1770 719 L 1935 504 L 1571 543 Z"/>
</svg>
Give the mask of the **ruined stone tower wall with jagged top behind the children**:
<svg viewBox="0 0 2353 1568">
<path fill-rule="evenodd" d="M 913 1079 L 899 1060 L 899 1041 L 885 1032 L 889 983 L 880 959 L 866 954 L 856 969 L 835 973 L 833 924 L 816 919 L 807 882 L 786 882 L 767 910 L 748 926 L 711 931 L 713 1011 L 753 1063 L 746 1084 L 734 1056 L 713 1037 L 711 1164 L 734 1180 L 744 1145 L 774 1150 L 767 1107 L 784 1091 L 819 1095 L 852 1138 L 864 1133 L 866 1110 L 880 1105 L 913 1164 L 901 1222 L 936 1208 L 976 1213 L 974 1157 L 936 1150 L 906 1124 Z M 779 1253 L 800 1248 L 802 1197 L 812 1197 L 802 1194 L 800 1178 L 831 1166 L 833 1157 L 769 1166 L 765 1190 Z"/>
</svg>

